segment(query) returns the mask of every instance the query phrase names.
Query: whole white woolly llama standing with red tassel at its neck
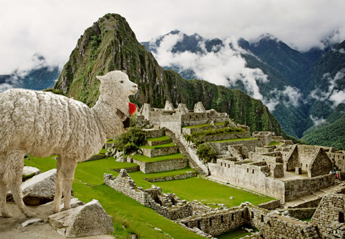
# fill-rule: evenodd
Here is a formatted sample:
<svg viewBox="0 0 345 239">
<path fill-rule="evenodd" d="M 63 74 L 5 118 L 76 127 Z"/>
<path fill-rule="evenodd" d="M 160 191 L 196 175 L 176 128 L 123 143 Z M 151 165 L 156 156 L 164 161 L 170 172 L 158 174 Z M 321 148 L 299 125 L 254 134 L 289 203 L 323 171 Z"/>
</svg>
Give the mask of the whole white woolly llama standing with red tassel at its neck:
<svg viewBox="0 0 345 239">
<path fill-rule="evenodd" d="M 101 81 L 95 106 L 53 93 L 11 89 L 0 94 L 0 212 L 12 217 L 6 207 L 6 184 L 14 201 L 27 217 L 34 216 L 23 204 L 21 178 L 26 153 L 38 157 L 58 155 L 54 213 L 70 209 L 70 191 L 77 162 L 99 153 L 106 141 L 126 131 L 128 95 L 137 84 L 119 70 L 97 76 Z"/>
</svg>

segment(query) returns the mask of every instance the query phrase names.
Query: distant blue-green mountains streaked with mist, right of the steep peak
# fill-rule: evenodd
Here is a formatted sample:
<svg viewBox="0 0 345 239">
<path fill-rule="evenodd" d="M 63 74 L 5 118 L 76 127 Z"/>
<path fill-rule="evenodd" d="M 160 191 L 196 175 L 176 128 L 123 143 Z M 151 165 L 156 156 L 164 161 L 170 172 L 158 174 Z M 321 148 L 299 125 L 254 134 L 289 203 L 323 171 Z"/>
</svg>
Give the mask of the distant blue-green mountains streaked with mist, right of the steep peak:
<svg viewBox="0 0 345 239">
<path fill-rule="evenodd" d="M 337 110 L 345 100 L 344 41 L 331 44 L 325 39 L 322 48 L 299 52 L 270 34 L 254 41 L 221 40 L 174 30 L 141 44 L 163 68 L 186 79 L 238 88 L 262 100 L 288 135 L 301 138 L 328 125 L 332 113 L 333 119 L 344 114 Z M 325 140 L 323 145 L 332 144 Z"/>
</svg>

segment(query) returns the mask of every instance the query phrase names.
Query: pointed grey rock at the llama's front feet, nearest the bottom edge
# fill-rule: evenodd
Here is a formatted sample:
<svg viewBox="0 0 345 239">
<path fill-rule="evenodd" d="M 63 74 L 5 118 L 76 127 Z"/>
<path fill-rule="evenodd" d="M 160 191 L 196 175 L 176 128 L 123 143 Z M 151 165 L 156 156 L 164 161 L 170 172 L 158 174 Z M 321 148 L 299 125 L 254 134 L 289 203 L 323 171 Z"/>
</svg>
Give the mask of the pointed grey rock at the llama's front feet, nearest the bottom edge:
<svg viewBox="0 0 345 239">
<path fill-rule="evenodd" d="M 114 231 L 112 220 L 97 200 L 61 211 L 48 217 L 48 221 L 59 234 L 66 238 L 109 234 Z"/>
</svg>

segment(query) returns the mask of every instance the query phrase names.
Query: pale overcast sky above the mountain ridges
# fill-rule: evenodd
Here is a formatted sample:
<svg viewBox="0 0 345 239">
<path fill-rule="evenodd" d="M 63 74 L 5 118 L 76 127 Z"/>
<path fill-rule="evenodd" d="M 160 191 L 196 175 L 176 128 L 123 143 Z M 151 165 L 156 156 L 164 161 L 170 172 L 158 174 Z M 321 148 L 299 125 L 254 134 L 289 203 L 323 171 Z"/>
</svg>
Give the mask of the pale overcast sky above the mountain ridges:
<svg viewBox="0 0 345 239">
<path fill-rule="evenodd" d="M 269 32 L 298 50 L 321 46 L 330 35 L 345 39 L 344 0 L 0 0 L 0 6 L 0 75 L 31 68 L 35 53 L 63 66 L 83 31 L 108 12 L 125 17 L 138 41 L 175 29 L 247 40 Z"/>
</svg>

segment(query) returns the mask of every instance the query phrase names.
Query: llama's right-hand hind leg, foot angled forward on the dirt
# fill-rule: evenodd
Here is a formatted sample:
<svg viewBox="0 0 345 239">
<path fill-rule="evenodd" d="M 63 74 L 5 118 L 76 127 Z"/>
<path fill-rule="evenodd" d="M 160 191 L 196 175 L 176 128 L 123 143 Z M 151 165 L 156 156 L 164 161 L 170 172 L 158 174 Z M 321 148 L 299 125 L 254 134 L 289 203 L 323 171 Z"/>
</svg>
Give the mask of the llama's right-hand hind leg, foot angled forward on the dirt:
<svg viewBox="0 0 345 239">
<path fill-rule="evenodd" d="M 21 194 L 21 182 L 23 178 L 23 166 L 24 166 L 25 152 L 21 150 L 12 150 L 8 153 L 6 158 L 6 164 L 10 165 L 6 170 L 7 182 L 12 191 L 14 202 L 16 202 L 19 210 L 27 217 L 31 218 L 34 213 L 29 211 L 23 202 L 23 195 Z"/>
</svg>

